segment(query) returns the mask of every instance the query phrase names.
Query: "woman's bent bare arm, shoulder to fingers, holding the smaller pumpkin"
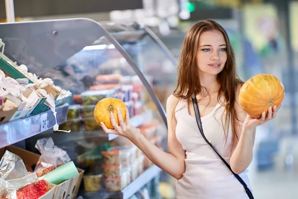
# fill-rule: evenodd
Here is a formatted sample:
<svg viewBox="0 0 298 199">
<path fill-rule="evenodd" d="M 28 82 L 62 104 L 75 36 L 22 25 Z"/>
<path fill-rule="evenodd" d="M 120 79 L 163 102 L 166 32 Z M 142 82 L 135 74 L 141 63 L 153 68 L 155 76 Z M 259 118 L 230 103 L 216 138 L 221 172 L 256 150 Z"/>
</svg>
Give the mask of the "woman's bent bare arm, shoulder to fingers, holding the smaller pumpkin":
<svg viewBox="0 0 298 199">
<path fill-rule="evenodd" d="M 140 131 L 132 126 L 129 121 L 129 114 L 126 110 L 126 123 L 123 122 L 118 111 L 119 125 L 116 124 L 114 114 L 111 114 L 111 122 L 114 129 L 108 129 L 101 123 L 106 133 L 113 133 L 130 139 L 156 166 L 170 174 L 176 179 L 180 179 L 185 172 L 185 151 L 178 142 L 175 134 L 176 118 L 174 115 L 178 99 L 171 95 L 166 102 L 166 115 L 168 123 L 168 153 L 160 150 L 149 140 L 146 139 Z"/>
</svg>

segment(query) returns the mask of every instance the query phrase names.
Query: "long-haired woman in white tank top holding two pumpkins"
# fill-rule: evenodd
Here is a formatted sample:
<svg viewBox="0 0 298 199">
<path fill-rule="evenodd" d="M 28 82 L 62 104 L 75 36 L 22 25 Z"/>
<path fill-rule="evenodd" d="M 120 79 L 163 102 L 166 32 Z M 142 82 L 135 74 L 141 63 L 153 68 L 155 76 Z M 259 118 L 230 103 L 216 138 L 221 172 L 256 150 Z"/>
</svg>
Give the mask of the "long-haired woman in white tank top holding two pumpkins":
<svg viewBox="0 0 298 199">
<path fill-rule="evenodd" d="M 256 127 L 274 118 L 277 107 L 261 118 L 246 115 L 238 104 L 243 82 L 237 79 L 234 53 L 224 28 L 206 20 L 190 28 L 184 39 L 178 84 L 166 103 L 168 152 L 151 144 L 120 118 L 106 133 L 125 136 L 158 167 L 175 177 L 176 199 L 247 199 L 243 186 L 203 139 L 191 102 L 197 94 L 204 134 L 232 171 L 250 188 L 246 175 L 252 160 Z M 118 111 L 118 115 L 119 115 Z"/>
</svg>

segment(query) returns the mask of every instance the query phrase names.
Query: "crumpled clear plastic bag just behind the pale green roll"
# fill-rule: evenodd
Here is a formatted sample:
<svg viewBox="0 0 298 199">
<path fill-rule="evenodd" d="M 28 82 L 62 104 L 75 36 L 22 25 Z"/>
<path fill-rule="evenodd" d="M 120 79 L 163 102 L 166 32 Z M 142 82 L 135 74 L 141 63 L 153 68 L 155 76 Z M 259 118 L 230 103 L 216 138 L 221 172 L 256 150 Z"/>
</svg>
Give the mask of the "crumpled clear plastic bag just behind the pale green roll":
<svg viewBox="0 0 298 199">
<path fill-rule="evenodd" d="M 71 161 L 67 152 L 56 146 L 51 137 L 37 140 L 35 148 L 39 150 L 41 156 L 34 172 L 38 172 L 41 168 L 45 168 L 43 164 L 41 164 L 42 162 L 51 164 L 57 168 L 58 166 Z"/>
</svg>

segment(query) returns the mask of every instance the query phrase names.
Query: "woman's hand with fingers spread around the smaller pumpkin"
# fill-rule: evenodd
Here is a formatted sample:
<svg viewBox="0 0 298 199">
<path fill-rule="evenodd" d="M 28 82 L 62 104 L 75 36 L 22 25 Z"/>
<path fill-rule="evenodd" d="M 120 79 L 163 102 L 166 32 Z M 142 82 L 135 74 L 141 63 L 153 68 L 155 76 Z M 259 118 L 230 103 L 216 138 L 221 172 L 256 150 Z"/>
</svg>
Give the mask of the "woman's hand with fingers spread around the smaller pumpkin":
<svg viewBox="0 0 298 199">
<path fill-rule="evenodd" d="M 119 108 L 117 109 L 117 114 L 118 114 L 117 116 L 118 116 L 118 120 L 119 120 L 119 125 L 116 123 L 114 113 L 111 112 L 111 114 L 110 114 L 111 123 L 112 123 L 112 126 L 114 127 L 114 129 L 109 129 L 104 125 L 103 122 L 100 122 L 101 127 L 105 133 L 112 133 L 115 135 L 124 136 L 128 139 L 134 137 L 135 135 L 137 135 L 137 133 L 139 133 L 138 129 L 136 127 L 134 127 L 133 125 L 131 125 L 130 117 L 129 117 L 129 113 L 128 113 L 127 109 L 125 110 L 125 114 L 126 114 L 125 122 L 122 119 L 121 112 L 120 112 Z"/>
</svg>

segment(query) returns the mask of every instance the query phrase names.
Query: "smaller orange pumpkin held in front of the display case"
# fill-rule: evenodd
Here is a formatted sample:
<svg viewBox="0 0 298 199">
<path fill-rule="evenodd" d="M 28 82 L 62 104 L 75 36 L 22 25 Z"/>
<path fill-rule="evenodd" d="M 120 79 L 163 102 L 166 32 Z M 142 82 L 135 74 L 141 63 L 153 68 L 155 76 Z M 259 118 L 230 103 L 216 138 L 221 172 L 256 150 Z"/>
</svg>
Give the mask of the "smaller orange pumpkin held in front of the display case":
<svg viewBox="0 0 298 199">
<path fill-rule="evenodd" d="M 126 105 L 123 101 L 116 98 L 105 98 L 97 102 L 94 108 L 94 118 L 96 122 L 101 126 L 100 122 L 103 122 L 107 128 L 113 129 L 113 125 L 110 120 L 110 113 L 114 113 L 116 123 L 119 125 L 117 108 L 120 108 L 121 116 L 125 121 Z"/>
</svg>

